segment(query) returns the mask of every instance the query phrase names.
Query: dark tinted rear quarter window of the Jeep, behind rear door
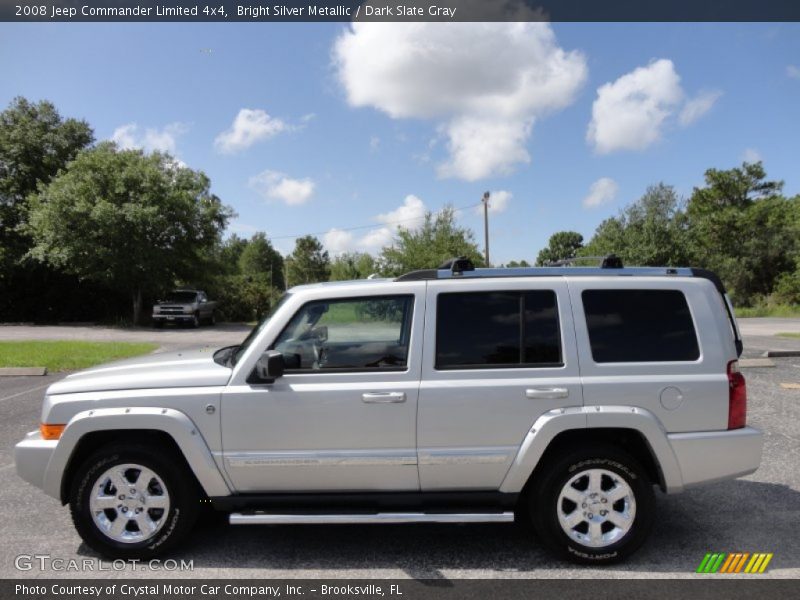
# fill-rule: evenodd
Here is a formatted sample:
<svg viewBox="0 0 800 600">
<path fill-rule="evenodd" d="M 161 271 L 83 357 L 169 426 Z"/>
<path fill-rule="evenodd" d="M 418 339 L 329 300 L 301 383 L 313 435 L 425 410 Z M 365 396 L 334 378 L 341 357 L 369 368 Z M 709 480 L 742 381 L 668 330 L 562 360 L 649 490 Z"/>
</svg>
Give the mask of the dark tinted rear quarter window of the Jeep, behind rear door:
<svg viewBox="0 0 800 600">
<path fill-rule="evenodd" d="M 686 296 L 679 290 L 584 290 L 596 363 L 685 362 L 700 358 Z"/>
</svg>

